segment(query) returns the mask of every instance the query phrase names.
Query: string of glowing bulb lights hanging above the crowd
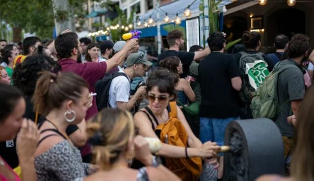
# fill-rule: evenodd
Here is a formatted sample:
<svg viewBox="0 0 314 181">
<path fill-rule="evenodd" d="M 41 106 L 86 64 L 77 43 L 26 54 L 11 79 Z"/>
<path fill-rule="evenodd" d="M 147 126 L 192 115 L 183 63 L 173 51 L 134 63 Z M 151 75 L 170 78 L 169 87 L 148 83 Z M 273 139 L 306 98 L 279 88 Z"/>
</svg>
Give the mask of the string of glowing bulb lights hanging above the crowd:
<svg viewBox="0 0 314 181">
<path fill-rule="evenodd" d="M 251 2 L 251 1 L 256 1 L 259 2 L 260 5 L 265 5 L 268 2 L 283 2 L 283 0 L 221 0 L 221 1 L 228 1 L 228 2 L 235 2 L 235 1 L 240 1 L 240 2 Z M 160 7 L 158 8 L 160 11 L 165 13 L 165 17 L 163 18 L 164 23 L 169 23 L 170 22 L 170 18 L 168 17 L 168 15 L 176 15 L 175 19 L 173 19 L 171 22 L 180 25 L 182 20 L 179 17 L 179 14 L 183 12 L 183 16 L 185 16 L 186 18 L 189 18 L 191 16 L 191 10 L 190 10 L 190 6 L 196 2 L 196 0 L 194 0 L 191 4 L 189 4 L 183 11 L 179 12 L 179 13 L 168 13 L 163 11 Z M 288 6 L 294 6 L 296 4 L 296 2 L 314 2 L 313 0 L 287 0 L 287 4 Z M 149 27 L 150 25 L 153 24 L 153 26 L 156 26 L 156 24 L 154 24 L 154 19 L 152 18 L 152 15 L 155 13 L 157 8 L 154 9 L 154 11 L 151 13 L 151 15 L 149 16 L 149 19 L 146 21 L 144 20 L 144 27 Z M 142 22 L 140 19 L 137 20 L 136 22 L 137 26 L 141 26 Z M 161 25 L 161 23 L 159 23 L 159 25 Z M 133 28 L 133 25 L 130 24 L 128 26 L 120 26 L 119 24 L 115 25 L 115 26 L 108 26 L 106 27 L 105 31 L 104 30 L 99 30 L 97 32 L 93 32 L 93 33 L 89 33 L 88 36 L 96 36 L 96 35 L 109 35 L 109 31 L 110 30 L 115 30 L 121 28 L 125 31 L 129 31 L 130 29 Z"/>
</svg>

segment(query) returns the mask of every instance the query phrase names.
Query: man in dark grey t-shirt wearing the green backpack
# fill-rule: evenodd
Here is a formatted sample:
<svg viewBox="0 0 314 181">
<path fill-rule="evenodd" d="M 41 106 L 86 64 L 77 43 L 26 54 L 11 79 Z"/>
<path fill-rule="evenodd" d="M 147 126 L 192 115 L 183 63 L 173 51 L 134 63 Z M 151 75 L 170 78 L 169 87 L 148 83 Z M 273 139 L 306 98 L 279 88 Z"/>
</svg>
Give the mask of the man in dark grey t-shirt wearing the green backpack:
<svg viewBox="0 0 314 181">
<path fill-rule="evenodd" d="M 309 37 L 307 35 L 295 34 L 288 44 L 289 59 L 277 64 L 278 69 L 286 65 L 295 67 L 284 70 L 278 76 L 278 105 L 281 105 L 281 110 L 275 119 L 275 123 L 283 136 L 285 155 L 288 154 L 291 148 L 293 136 L 293 127 L 287 122 L 287 117 L 291 113 L 298 117 L 298 110 L 305 88 L 302 62 L 309 53 L 309 47 Z"/>
</svg>

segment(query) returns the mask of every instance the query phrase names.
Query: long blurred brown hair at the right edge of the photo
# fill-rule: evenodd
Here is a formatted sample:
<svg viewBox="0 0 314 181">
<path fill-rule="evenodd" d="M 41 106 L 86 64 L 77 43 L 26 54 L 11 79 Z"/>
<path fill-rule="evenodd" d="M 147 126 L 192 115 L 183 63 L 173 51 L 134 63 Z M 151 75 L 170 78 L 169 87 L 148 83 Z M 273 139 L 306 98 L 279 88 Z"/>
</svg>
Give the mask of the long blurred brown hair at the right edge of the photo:
<svg viewBox="0 0 314 181">
<path fill-rule="evenodd" d="M 291 176 L 295 181 L 314 181 L 314 86 L 302 101 L 296 124 Z"/>
</svg>

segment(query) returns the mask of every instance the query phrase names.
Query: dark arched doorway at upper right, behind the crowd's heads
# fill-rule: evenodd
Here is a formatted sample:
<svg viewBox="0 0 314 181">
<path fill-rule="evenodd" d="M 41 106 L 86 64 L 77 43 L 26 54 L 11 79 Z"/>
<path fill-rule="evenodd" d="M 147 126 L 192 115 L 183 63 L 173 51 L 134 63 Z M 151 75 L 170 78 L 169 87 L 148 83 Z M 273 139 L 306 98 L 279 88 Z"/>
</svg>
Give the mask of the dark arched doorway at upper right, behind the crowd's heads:
<svg viewBox="0 0 314 181">
<path fill-rule="evenodd" d="M 289 39 L 296 33 L 305 33 L 305 12 L 295 8 L 280 9 L 267 18 L 267 46 L 272 46 L 275 36 L 285 34 Z"/>
</svg>

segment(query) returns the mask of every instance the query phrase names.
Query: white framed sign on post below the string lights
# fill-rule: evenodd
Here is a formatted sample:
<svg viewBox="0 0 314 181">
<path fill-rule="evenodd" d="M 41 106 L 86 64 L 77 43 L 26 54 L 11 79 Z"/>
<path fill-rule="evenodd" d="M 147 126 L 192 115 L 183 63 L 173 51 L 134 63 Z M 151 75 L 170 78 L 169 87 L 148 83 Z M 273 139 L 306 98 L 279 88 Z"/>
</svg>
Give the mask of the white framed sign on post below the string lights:
<svg viewBox="0 0 314 181">
<path fill-rule="evenodd" d="M 200 45 L 200 26 L 198 17 L 186 20 L 186 51 L 188 52 L 193 45 Z"/>
</svg>

